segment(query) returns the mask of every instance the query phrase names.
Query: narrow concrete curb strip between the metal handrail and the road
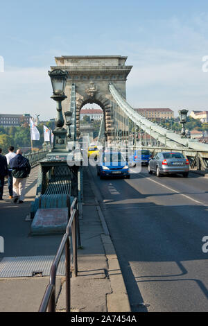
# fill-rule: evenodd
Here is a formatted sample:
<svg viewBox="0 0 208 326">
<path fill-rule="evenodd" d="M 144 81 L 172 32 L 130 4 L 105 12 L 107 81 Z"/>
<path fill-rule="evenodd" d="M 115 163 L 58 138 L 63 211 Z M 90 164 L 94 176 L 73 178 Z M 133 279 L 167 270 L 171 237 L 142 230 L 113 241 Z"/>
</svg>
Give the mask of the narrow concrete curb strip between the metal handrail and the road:
<svg viewBox="0 0 208 326">
<path fill-rule="evenodd" d="M 71 278 L 71 311 L 128 312 L 130 304 L 119 261 L 89 179 L 86 168 L 80 220 L 83 250 L 78 250 L 78 276 Z M 58 298 L 58 311 L 65 309 L 64 295 L 65 283 Z"/>
</svg>

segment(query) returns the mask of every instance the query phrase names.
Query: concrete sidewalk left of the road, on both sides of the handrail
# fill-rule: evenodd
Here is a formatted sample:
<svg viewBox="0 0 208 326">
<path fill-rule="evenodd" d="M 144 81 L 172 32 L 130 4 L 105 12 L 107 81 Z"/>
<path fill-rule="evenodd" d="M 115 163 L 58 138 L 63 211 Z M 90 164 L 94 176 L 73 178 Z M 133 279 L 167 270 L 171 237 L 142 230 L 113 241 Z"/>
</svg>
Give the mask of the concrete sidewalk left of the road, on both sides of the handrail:
<svg viewBox="0 0 208 326">
<path fill-rule="evenodd" d="M 29 191 L 24 207 L 20 209 L 8 200 L 1 203 L 3 215 L 1 215 L 0 229 L 8 235 L 6 235 L 6 252 L 0 254 L 0 261 L 6 256 L 27 257 L 32 254 L 55 256 L 58 250 L 62 236 L 31 237 L 29 234 L 31 222 L 25 221 L 31 200 L 35 196 L 36 173 L 34 169 L 31 180 L 28 180 Z M 78 276 L 71 277 L 71 311 L 129 312 L 130 304 L 119 261 L 91 184 L 92 180 L 86 168 L 83 185 L 83 218 L 80 219 L 83 249 L 78 250 Z M 5 194 L 5 198 L 7 196 L 8 194 Z M 38 311 L 48 283 L 49 277 L 38 275 L 37 277 L 0 278 L 0 311 Z M 56 299 L 57 311 L 65 311 L 64 277 L 57 277 Z"/>
</svg>

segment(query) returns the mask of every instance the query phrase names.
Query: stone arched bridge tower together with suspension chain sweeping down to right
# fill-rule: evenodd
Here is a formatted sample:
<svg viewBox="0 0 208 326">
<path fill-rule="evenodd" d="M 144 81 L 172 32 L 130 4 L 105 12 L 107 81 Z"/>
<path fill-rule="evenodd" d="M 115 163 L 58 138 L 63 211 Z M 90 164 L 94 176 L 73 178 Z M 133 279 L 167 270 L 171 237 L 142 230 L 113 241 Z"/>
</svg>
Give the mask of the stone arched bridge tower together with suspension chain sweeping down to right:
<svg viewBox="0 0 208 326">
<path fill-rule="evenodd" d="M 62 108 L 64 112 L 72 112 L 73 140 L 80 136 L 80 110 L 83 105 L 96 103 L 103 110 L 99 143 L 107 141 L 108 144 L 141 146 L 141 136 L 145 139 L 149 135 L 149 146 L 154 153 L 161 147 L 182 151 L 189 157 L 192 167 L 197 166 L 205 171 L 208 167 L 208 145 L 159 126 L 136 112 L 128 103 L 126 80 L 132 66 L 125 65 L 126 60 L 127 57 L 121 55 L 55 57 L 57 66 L 51 69 L 63 69 L 68 73 L 67 98 L 62 102 Z"/>
</svg>

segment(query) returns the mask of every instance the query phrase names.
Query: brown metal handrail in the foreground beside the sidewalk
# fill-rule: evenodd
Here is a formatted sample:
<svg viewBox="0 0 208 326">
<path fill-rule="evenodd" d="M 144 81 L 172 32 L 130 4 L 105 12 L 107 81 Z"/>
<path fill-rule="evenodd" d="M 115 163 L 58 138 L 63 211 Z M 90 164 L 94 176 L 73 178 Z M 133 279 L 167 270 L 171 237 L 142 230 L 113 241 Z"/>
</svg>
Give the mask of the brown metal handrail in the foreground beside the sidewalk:
<svg viewBox="0 0 208 326">
<path fill-rule="evenodd" d="M 44 297 L 40 304 L 40 308 L 38 312 L 46 312 L 47 308 L 49 312 L 55 312 L 55 279 L 56 273 L 58 269 L 58 265 L 60 263 L 60 259 L 62 257 L 62 252 L 65 248 L 65 276 L 66 276 L 66 311 L 70 312 L 71 305 L 71 253 L 70 253 L 70 240 L 69 237 L 72 237 L 73 242 L 73 273 L 77 276 L 78 273 L 78 264 L 77 264 L 77 231 L 78 231 L 78 209 L 77 209 L 77 198 L 74 198 L 73 203 L 71 204 L 70 209 L 70 218 L 67 224 L 66 233 L 62 237 L 62 241 L 60 243 L 60 247 L 58 248 L 58 252 L 53 259 L 53 264 L 51 266 L 50 272 L 50 280 L 49 284 L 46 287 L 46 291 L 44 293 Z"/>
</svg>

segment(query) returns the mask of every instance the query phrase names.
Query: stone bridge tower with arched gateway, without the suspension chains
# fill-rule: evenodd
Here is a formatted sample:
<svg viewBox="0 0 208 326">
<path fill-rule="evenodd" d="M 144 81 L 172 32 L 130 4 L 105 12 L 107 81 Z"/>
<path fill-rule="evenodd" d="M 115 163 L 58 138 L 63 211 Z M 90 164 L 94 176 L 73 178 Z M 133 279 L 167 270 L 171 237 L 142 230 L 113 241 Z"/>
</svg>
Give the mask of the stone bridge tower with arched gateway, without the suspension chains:
<svg viewBox="0 0 208 326">
<path fill-rule="evenodd" d="M 51 69 L 68 71 L 65 94 L 62 102 L 63 112 L 70 110 L 71 87 L 76 91 L 76 129 L 79 134 L 80 110 L 87 103 L 101 106 L 105 118 L 105 132 L 108 141 L 111 140 L 113 117 L 110 110 L 109 84 L 113 83 L 119 93 L 125 98 L 125 81 L 132 66 L 125 66 L 127 57 L 121 55 L 62 55 L 55 57 L 57 66 Z"/>
</svg>

